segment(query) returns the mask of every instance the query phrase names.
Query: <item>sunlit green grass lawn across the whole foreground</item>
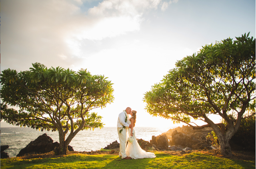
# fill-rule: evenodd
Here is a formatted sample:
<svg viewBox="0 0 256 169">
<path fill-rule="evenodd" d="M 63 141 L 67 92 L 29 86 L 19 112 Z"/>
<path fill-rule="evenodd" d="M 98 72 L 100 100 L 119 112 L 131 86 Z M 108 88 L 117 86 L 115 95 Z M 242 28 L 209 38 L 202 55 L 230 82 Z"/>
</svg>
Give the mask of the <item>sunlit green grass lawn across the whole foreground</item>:
<svg viewBox="0 0 256 169">
<path fill-rule="evenodd" d="M 190 153 L 183 156 L 155 151 L 156 158 L 121 160 L 118 155 L 73 154 L 59 158 L 1 159 L 1 169 L 255 169 L 255 161 Z"/>
</svg>

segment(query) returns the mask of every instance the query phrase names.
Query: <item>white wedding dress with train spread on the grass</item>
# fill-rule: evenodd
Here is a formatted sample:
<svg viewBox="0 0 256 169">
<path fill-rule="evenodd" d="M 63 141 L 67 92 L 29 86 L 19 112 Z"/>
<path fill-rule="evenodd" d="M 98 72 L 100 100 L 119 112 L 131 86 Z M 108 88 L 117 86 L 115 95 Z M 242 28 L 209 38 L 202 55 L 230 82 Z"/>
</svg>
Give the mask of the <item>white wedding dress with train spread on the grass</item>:
<svg viewBox="0 0 256 169">
<path fill-rule="evenodd" d="M 130 119 L 127 121 L 128 124 L 131 124 Z M 132 143 L 128 142 L 128 145 L 126 147 L 126 155 L 128 157 L 131 157 L 132 159 L 142 159 L 142 158 L 155 158 L 156 155 L 151 152 L 146 152 L 144 151 L 138 141 L 136 140 L 135 137 L 135 130 L 133 128 L 132 130 L 133 136 L 132 139 L 134 140 Z M 131 137 L 131 129 L 128 128 L 128 137 Z"/>
</svg>

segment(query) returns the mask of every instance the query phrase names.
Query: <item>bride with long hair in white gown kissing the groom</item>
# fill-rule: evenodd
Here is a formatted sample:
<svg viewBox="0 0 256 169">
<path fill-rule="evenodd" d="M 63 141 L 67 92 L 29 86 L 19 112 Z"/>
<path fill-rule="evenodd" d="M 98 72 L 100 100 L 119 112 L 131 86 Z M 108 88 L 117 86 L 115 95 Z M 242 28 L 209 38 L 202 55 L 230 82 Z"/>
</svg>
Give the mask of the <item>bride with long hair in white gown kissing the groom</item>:
<svg viewBox="0 0 256 169">
<path fill-rule="evenodd" d="M 154 153 L 144 151 L 136 140 L 135 130 L 133 129 L 136 123 L 136 113 L 135 110 L 132 110 L 130 113 L 132 117 L 127 121 L 128 124 L 132 125 L 131 128 L 128 128 L 128 137 L 132 138 L 134 141 L 132 141 L 132 143 L 128 142 L 126 155 L 132 159 L 155 158 L 156 155 Z"/>
</svg>

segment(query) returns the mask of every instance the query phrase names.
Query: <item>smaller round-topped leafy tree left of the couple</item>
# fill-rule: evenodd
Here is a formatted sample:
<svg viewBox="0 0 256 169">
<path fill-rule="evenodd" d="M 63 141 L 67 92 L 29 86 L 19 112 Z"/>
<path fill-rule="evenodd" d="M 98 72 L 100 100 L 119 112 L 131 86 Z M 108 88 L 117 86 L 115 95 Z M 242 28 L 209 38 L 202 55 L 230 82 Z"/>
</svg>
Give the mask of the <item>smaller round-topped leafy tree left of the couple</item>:
<svg viewBox="0 0 256 169">
<path fill-rule="evenodd" d="M 59 154 L 66 154 L 70 141 L 80 130 L 103 127 L 102 117 L 92 110 L 104 108 L 114 100 L 113 84 L 86 69 L 75 72 L 60 67 L 47 69 L 40 63 L 32 65 L 30 71 L 2 71 L 2 102 L 20 110 L 6 108 L 1 111 L 1 118 L 36 130 L 58 130 Z"/>
</svg>

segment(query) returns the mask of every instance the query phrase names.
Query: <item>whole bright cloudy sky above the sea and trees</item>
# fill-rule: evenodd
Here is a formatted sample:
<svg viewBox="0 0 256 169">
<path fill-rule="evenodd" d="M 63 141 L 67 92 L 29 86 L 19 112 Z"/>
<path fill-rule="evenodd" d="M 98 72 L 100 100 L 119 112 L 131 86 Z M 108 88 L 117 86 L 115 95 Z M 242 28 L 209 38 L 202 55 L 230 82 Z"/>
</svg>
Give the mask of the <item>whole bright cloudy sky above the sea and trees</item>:
<svg viewBox="0 0 256 169">
<path fill-rule="evenodd" d="M 144 94 L 202 46 L 248 32 L 255 37 L 255 6 L 255 0 L 6 0 L 0 69 L 26 71 L 36 62 L 87 69 L 114 83 L 114 102 L 94 110 L 105 127 L 115 127 L 126 107 L 137 111 L 136 126 L 182 126 L 148 114 Z"/>
</svg>

